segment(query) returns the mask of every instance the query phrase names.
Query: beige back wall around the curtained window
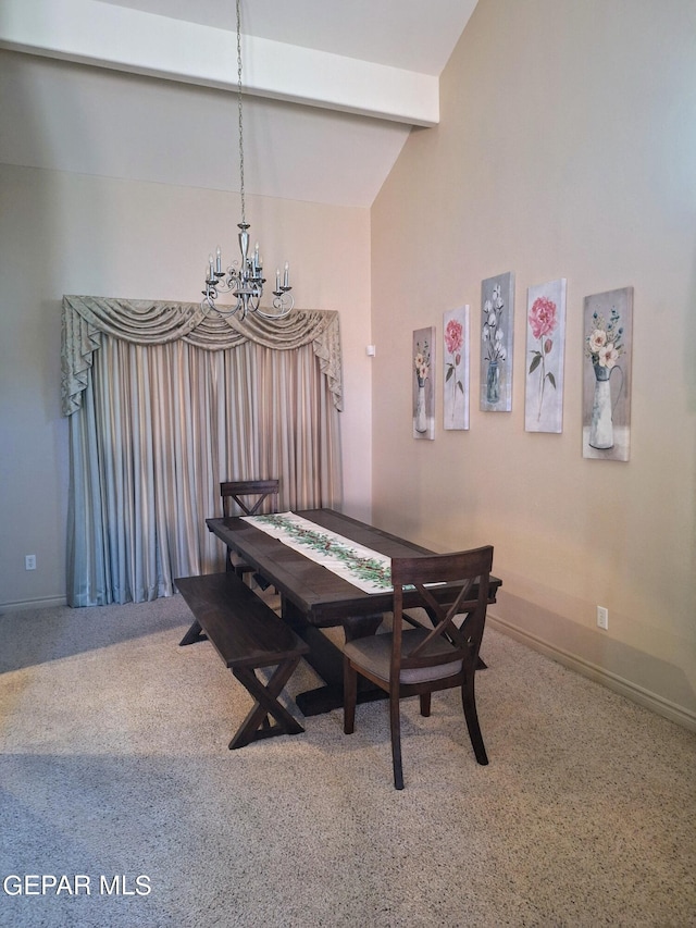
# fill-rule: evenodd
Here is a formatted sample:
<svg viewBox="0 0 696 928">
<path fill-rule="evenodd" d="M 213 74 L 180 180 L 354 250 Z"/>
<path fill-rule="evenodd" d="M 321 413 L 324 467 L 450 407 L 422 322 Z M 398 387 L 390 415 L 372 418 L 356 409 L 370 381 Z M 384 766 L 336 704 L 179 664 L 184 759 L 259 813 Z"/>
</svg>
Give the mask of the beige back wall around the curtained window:
<svg viewBox="0 0 696 928">
<path fill-rule="evenodd" d="M 198 300 L 209 251 L 238 248 L 238 212 L 234 194 L 0 164 L 0 606 L 65 595 L 63 294 Z M 290 262 L 297 306 L 340 313 L 345 509 L 366 517 L 369 212 L 248 197 L 247 220 L 268 262 Z"/>
</svg>

